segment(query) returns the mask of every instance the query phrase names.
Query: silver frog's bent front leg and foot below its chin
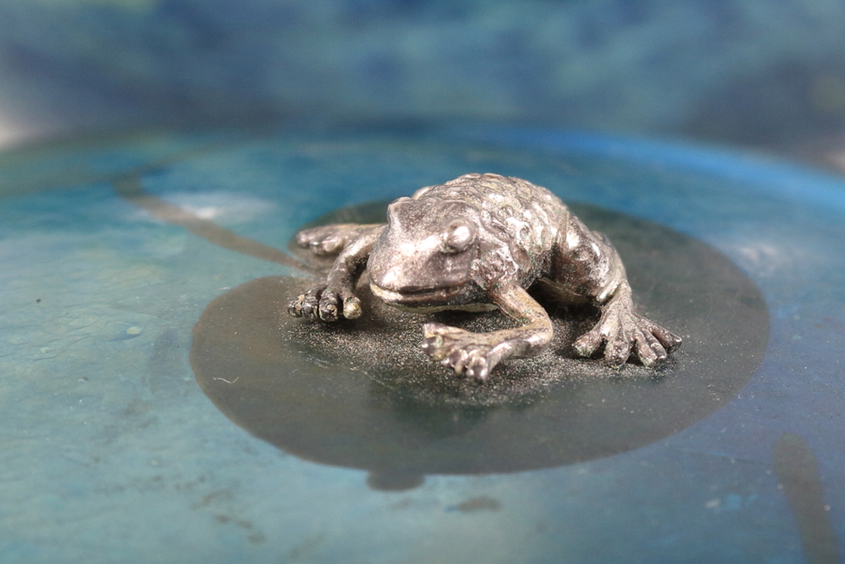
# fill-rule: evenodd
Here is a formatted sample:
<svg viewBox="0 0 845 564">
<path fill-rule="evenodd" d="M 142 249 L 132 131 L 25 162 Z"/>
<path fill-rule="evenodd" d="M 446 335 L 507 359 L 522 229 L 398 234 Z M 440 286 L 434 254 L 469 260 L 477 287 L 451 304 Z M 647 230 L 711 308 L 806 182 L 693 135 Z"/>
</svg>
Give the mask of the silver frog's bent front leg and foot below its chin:
<svg viewBox="0 0 845 564">
<path fill-rule="evenodd" d="M 536 355 L 552 339 L 552 321 L 546 311 L 515 282 L 499 285 L 490 299 L 521 327 L 490 333 L 472 333 L 443 323 L 423 325 L 423 351 L 433 360 L 484 381 L 493 367 L 510 356 Z"/>
</svg>

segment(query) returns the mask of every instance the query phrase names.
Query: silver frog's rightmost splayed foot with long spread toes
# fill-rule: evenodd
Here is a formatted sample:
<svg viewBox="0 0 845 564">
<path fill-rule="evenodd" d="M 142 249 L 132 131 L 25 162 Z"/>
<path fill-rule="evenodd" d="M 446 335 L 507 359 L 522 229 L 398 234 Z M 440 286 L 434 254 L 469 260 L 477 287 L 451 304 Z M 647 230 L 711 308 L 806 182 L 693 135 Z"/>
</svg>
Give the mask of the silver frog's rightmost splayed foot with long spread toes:
<svg viewBox="0 0 845 564">
<path fill-rule="evenodd" d="M 633 353 L 643 366 L 651 367 L 665 361 L 681 338 L 628 307 L 610 307 L 596 327 L 575 340 L 575 352 L 591 356 L 602 343 L 604 359 L 613 366 L 624 364 Z"/>
</svg>

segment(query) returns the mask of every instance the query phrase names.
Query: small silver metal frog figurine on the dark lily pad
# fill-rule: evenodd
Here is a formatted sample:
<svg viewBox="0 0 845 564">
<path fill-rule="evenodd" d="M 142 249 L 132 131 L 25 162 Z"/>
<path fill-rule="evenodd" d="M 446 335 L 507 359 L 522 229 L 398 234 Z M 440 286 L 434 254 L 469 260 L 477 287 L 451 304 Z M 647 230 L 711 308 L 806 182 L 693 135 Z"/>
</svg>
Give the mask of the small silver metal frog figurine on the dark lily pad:
<svg viewBox="0 0 845 564">
<path fill-rule="evenodd" d="M 389 306 L 503 312 L 515 327 L 478 333 L 423 323 L 423 351 L 480 382 L 501 361 L 537 355 L 551 341 L 551 317 L 532 296 L 535 289 L 597 308 L 595 325 L 573 343 L 578 356 L 615 368 L 629 361 L 653 368 L 682 342 L 635 312 L 608 237 L 587 228 L 547 188 L 521 178 L 464 174 L 396 199 L 386 224 L 321 225 L 299 231 L 295 242 L 335 258 L 324 280 L 290 301 L 292 317 L 324 323 L 360 317 L 356 289 L 365 270 L 369 290 Z"/>
</svg>

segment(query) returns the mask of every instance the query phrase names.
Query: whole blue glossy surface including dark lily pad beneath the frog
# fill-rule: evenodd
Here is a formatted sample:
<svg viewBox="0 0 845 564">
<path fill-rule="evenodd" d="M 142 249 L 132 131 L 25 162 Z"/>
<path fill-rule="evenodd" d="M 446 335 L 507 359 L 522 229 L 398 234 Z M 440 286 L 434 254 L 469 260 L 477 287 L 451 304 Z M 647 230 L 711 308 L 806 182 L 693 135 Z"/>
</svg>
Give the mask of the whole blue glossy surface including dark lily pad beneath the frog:
<svg viewBox="0 0 845 564">
<path fill-rule="evenodd" d="M 657 368 L 571 348 L 487 382 L 362 291 L 303 323 L 305 225 L 466 172 L 619 249 Z M 0 154 L 8 562 L 837 561 L 845 182 L 744 154 L 507 128 L 143 133 Z M 837 534 L 839 537 L 837 538 Z"/>
</svg>

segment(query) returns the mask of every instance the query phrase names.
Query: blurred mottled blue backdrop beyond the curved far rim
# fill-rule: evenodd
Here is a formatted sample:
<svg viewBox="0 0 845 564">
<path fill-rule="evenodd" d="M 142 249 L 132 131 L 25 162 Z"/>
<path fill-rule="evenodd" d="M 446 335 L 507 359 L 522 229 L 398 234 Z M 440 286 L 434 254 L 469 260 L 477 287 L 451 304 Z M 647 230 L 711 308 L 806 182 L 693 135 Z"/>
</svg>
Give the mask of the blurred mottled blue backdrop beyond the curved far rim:
<svg viewBox="0 0 845 564">
<path fill-rule="evenodd" d="M 161 125 L 441 122 L 845 167 L 845 3 L 0 0 L 0 146 Z"/>
</svg>

